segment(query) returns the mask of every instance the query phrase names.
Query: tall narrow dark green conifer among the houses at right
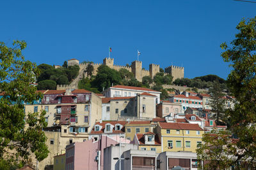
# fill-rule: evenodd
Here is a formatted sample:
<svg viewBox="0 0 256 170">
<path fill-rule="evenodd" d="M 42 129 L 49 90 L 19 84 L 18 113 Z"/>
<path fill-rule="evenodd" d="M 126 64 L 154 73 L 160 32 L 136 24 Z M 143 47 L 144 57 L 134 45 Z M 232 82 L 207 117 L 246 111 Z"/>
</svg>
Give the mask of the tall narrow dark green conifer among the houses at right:
<svg viewBox="0 0 256 170">
<path fill-rule="evenodd" d="M 211 92 L 210 106 L 212 108 L 212 112 L 214 113 L 213 117 L 216 118 L 216 124 L 220 125 L 221 122 L 224 122 L 223 120 L 225 118 L 225 111 L 224 111 L 225 99 L 223 99 L 224 94 L 220 87 L 219 81 L 214 81 L 213 87 L 210 89 L 210 92 Z"/>
</svg>

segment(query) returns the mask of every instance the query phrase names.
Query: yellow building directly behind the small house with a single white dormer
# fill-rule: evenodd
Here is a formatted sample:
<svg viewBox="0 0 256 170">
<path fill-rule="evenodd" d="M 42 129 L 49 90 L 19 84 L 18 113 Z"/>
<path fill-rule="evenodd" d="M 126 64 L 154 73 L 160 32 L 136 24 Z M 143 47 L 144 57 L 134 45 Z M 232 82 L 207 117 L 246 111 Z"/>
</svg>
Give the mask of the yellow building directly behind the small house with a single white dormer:
<svg viewBox="0 0 256 170">
<path fill-rule="evenodd" d="M 125 125 L 125 137 L 126 139 L 133 140 L 134 134 L 145 134 L 147 132 L 153 132 L 155 124 L 150 121 L 134 121 Z"/>
</svg>

